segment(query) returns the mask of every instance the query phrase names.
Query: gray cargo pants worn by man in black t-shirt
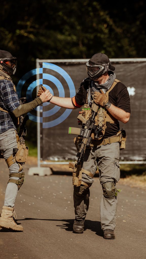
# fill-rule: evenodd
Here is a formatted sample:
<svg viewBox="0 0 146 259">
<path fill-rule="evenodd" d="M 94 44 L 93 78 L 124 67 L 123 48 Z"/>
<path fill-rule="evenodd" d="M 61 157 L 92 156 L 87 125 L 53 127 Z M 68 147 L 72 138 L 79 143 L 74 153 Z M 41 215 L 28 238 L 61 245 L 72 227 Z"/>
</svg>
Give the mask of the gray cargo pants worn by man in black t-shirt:
<svg viewBox="0 0 146 259">
<path fill-rule="evenodd" d="M 86 149 L 84 155 L 83 169 L 88 170 L 93 175 L 99 170 L 100 183 L 116 182 L 120 179 L 119 166 L 120 145 L 118 142 Z M 86 174 L 82 174 L 82 181 L 93 183 L 94 179 Z M 89 207 L 90 191 L 86 186 L 74 186 L 74 207 L 75 217 L 78 220 L 85 219 Z M 100 219 L 103 231 L 107 228 L 114 230 L 116 223 L 117 197 L 107 199 L 101 198 Z"/>
</svg>

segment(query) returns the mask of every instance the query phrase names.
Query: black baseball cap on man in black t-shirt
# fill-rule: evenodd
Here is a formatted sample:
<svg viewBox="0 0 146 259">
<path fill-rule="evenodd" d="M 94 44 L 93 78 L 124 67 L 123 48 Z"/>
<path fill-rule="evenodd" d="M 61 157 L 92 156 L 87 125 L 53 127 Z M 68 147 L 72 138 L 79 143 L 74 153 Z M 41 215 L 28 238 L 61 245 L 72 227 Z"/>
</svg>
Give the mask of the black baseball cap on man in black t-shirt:
<svg viewBox="0 0 146 259">
<path fill-rule="evenodd" d="M 108 64 L 110 62 L 109 58 L 107 55 L 103 54 L 103 53 L 96 53 L 94 54 L 91 59 L 89 60 L 89 64 L 91 66 L 94 65 L 103 65 L 103 64 Z M 114 71 L 115 67 L 111 66 L 111 63 L 109 65 L 109 69 Z"/>
</svg>

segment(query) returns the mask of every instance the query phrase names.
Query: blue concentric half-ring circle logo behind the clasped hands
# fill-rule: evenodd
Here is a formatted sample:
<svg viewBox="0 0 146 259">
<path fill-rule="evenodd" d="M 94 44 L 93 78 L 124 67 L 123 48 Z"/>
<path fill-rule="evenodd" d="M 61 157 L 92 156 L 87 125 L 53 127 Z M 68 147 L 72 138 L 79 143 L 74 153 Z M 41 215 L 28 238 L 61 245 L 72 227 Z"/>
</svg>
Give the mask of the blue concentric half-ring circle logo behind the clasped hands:
<svg viewBox="0 0 146 259">
<path fill-rule="evenodd" d="M 39 85 L 45 86 L 52 95 L 54 94 L 54 90 L 58 93 L 59 97 L 66 97 L 65 96 L 65 89 L 68 88 L 69 90 L 69 96 L 67 97 L 73 97 L 75 96 L 75 86 L 72 82 L 71 77 L 68 75 L 68 73 L 62 69 L 61 67 L 52 64 L 43 62 L 42 68 L 36 68 L 28 73 L 26 73 L 18 82 L 17 84 L 17 94 L 18 97 L 24 97 L 22 96 L 22 90 L 26 82 L 30 80 L 30 78 L 37 75 L 39 79 L 32 81 L 28 86 L 26 90 L 26 98 L 27 102 L 31 102 L 32 99 L 32 92 L 35 88 L 37 88 Z M 63 84 L 62 84 L 63 82 Z M 65 85 L 65 89 L 64 89 Z M 60 110 L 61 107 L 57 105 L 52 105 L 51 103 L 43 103 L 42 105 L 42 117 L 39 118 L 39 121 L 43 124 L 43 128 L 50 128 L 54 127 L 60 123 L 62 123 L 71 113 L 71 109 L 65 109 L 63 112 Z M 51 107 L 53 106 L 53 107 Z M 40 106 L 35 108 L 35 113 L 37 113 L 37 109 L 40 110 Z M 57 114 L 58 113 L 58 114 Z M 31 112 L 28 113 L 29 119 L 32 121 L 37 122 L 37 115 L 32 114 Z M 55 117 L 52 119 L 52 117 Z"/>
</svg>

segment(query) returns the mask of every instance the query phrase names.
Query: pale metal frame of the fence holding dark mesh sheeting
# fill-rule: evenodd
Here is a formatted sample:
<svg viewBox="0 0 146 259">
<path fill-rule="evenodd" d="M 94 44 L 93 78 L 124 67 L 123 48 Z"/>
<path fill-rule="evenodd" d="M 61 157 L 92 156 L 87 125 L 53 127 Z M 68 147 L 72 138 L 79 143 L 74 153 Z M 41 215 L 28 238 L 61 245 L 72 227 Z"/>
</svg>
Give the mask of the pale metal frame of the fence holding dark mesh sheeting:
<svg viewBox="0 0 146 259">
<path fill-rule="evenodd" d="M 36 68 L 40 68 L 39 63 L 48 62 L 48 63 L 86 63 L 89 59 L 36 59 Z M 136 62 L 145 62 L 146 58 L 129 58 L 129 59 L 110 59 L 113 63 L 136 63 Z M 36 75 L 36 79 L 39 79 L 39 74 Z M 37 87 L 38 91 L 38 87 Z M 38 167 L 49 164 L 68 164 L 69 162 L 46 162 L 41 161 L 41 145 L 40 145 L 40 113 L 41 107 L 37 107 L 37 163 Z M 120 164 L 146 164 L 146 161 L 120 161 Z"/>
</svg>

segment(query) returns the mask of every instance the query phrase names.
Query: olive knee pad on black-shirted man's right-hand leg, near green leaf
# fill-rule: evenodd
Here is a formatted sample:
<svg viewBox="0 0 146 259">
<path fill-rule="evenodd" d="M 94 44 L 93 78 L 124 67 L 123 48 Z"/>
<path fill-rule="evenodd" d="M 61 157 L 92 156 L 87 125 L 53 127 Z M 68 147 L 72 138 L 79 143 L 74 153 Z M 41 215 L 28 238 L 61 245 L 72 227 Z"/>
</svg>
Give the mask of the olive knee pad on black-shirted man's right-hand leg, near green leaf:
<svg viewBox="0 0 146 259">
<path fill-rule="evenodd" d="M 115 197 L 116 188 L 113 182 L 106 182 L 102 184 L 103 196 L 107 199 Z"/>
</svg>

